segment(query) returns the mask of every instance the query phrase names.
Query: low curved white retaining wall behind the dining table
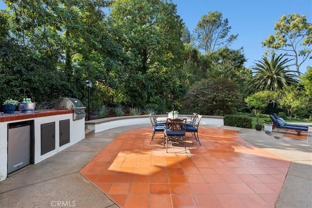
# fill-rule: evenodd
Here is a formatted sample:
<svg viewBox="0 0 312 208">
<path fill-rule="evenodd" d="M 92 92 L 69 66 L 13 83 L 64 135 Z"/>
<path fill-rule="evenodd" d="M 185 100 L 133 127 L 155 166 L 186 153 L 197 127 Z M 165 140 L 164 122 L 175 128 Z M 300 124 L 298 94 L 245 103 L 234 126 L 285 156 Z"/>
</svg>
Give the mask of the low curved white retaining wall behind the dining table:
<svg viewBox="0 0 312 208">
<path fill-rule="evenodd" d="M 156 116 L 166 116 L 166 115 L 156 115 Z M 191 115 L 181 115 L 181 116 L 191 117 Z M 95 133 L 97 133 L 121 126 L 150 124 L 150 123 L 151 122 L 148 115 L 130 115 L 130 116 L 118 116 L 90 120 L 86 121 L 85 125 L 87 125 L 88 129 L 93 129 Z M 223 126 L 224 125 L 223 116 L 203 115 L 203 117 L 200 120 L 200 124 L 203 125 L 212 124 Z"/>
</svg>

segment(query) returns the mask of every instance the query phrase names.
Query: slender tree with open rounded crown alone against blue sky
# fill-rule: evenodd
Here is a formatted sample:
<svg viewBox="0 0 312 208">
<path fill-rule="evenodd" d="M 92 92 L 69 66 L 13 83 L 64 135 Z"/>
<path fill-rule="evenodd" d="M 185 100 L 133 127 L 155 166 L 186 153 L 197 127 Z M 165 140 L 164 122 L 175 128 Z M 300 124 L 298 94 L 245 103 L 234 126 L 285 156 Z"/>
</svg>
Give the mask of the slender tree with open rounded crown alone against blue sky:
<svg viewBox="0 0 312 208">
<path fill-rule="evenodd" d="M 222 19 L 221 12 L 209 12 L 201 16 L 195 28 L 195 39 L 198 48 L 205 52 L 213 52 L 230 46 L 238 35 L 229 35 L 231 26 L 228 19 Z"/>
</svg>

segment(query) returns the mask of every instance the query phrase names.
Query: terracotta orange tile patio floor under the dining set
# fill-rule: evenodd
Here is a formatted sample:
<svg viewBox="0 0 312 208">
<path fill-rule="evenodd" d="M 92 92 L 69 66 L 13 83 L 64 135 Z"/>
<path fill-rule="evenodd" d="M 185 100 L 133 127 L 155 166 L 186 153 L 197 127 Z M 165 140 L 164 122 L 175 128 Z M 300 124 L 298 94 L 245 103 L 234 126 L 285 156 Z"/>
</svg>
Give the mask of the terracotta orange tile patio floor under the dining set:
<svg viewBox="0 0 312 208">
<path fill-rule="evenodd" d="M 151 135 L 119 134 L 80 173 L 124 208 L 273 208 L 290 167 L 232 130 L 201 127 L 187 153 Z"/>
</svg>

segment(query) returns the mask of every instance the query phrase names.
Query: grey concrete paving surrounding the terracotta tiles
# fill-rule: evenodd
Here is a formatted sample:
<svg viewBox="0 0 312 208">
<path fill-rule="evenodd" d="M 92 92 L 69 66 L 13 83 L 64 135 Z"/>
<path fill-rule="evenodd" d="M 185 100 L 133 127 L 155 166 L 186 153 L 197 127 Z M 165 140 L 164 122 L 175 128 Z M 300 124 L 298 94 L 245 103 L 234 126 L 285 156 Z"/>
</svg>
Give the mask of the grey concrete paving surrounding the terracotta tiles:
<svg viewBox="0 0 312 208">
<path fill-rule="evenodd" d="M 89 135 L 73 146 L 36 165 L 17 170 L 0 182 L 1 208 L 117 208 L 117 204 L 80 173 L 89 161 L 121 132 L 150 127 L 149 124 L 119 127 Z M 283 137 L 285 131 L 272 135 L 253 129 L 207 125 L 236 130 L 245 141 L 292 161 L 276 208 L 312 207 L 311 128 L 308 140 Z"/>
</svg>

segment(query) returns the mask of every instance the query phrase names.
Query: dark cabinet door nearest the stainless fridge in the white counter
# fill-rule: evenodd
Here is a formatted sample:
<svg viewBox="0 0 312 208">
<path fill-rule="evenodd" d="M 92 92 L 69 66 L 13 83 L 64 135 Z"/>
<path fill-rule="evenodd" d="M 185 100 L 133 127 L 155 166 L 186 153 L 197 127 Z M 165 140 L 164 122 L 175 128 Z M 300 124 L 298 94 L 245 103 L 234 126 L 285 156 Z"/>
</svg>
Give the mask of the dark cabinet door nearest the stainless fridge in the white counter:
<svg viewBox="0 0 312 208">
<path fill-rule="evenodd" d="M 41 124 L 41 155 L 55 150 L 55 122 Z"/>
</svg>

